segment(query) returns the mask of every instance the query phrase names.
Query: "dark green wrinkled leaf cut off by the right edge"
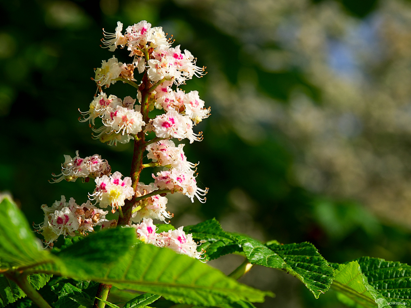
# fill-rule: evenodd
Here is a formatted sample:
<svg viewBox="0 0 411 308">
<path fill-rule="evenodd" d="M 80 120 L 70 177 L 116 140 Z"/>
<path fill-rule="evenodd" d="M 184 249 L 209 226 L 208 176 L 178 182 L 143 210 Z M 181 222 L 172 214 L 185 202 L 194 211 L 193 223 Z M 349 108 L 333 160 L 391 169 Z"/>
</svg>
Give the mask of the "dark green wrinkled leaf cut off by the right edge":
<svg viewBox="0 0 411 308">
<path fill-rule="evenodd" d="M 361 257 L 356 260 L 368 283 L 391 305 L 411 305 L 411 266 L 380 258 Z"/>
</svg>

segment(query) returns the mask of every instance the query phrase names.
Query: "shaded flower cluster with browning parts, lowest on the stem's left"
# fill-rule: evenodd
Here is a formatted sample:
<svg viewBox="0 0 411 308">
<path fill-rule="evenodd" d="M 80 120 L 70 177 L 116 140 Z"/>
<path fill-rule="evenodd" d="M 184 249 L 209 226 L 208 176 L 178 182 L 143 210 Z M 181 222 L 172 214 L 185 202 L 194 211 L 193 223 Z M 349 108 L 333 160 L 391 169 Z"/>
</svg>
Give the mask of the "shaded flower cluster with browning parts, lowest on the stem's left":
<svg viewBox="0 0 411 308">
<path fill-rule="evenodd" d="M 94 231 L 96 225 L 106 222 L 106 214 L 103 211 L 90 204 L 90 200 L 81 206 L 76 204 L 76 200 L 70 198 L 66 202 L 64 195 L 60 201 L 55 201 L 51 207 L 42 205 L 44 211 L 44 223 L 38 225 L 37 232 L 44 236 L 44 242 L 47 246 L 53 247 L 53 242 L 60 235 L 75 236 L 74 232 L 85 234 Z"/>
</svg>

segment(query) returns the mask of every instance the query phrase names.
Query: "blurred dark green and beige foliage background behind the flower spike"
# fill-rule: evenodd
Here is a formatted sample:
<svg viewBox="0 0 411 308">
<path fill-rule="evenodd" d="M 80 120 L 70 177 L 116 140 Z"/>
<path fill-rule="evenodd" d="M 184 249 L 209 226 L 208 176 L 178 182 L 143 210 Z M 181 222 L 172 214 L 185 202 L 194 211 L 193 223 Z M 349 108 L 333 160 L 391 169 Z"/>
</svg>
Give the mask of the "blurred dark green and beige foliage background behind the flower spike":
<svg viewBox="0 0 411 308">
<path fill-rule="evenodd" d="M 210 192 L 205 204 L 170 196 L 173 225 L 216 217 L 261 240 L 310 241 L 330 262 L 411 263 L 411 2 L 2 0 L 0 11 L 0 190 L 30 221 L 62 194 L 85 202 L 93 190 L 48 183 L 63 154 L 98 153 L 129 174 L 132 144 L 92 140 L 77 109 L 95 93 L 92 69 L 112 56 L 102 28 L 145 19 L 208 71 L 182 88 L 212 108 L 197 126 L 204 140 L 185 147 Z M 239 262 L 210 264 L 228 273 Z M 259 307 L 340 306 L 272 269 L 242 281 L 277 294 Z"/>
</svg>

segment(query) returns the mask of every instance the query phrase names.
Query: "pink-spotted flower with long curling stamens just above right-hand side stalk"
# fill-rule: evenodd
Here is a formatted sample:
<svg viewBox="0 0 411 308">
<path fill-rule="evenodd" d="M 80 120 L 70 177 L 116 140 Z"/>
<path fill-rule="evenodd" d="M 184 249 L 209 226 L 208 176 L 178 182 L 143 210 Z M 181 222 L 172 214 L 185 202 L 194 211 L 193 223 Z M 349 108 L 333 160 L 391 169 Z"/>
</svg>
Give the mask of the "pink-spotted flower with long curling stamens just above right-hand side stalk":
<svg viewBox="0 0 411 308">
<path fill-rule="evenodd" d="M 171 168 L 169 171 L 157 172 L 157 177 L 152 174 L 152 177 L 155 179 L 155 186 L 159 189 L 169 189 L 173 193 L 182 193 L 188 196 L 191 202 L 194 202 L 194 197 L 202 203 L 205 202 L 206 198 L 201 198 L 201 196 L 208 193 L 208 188 L 201 189 L 197 187 L 194 170 L 185 171 Z"/>
</svg>

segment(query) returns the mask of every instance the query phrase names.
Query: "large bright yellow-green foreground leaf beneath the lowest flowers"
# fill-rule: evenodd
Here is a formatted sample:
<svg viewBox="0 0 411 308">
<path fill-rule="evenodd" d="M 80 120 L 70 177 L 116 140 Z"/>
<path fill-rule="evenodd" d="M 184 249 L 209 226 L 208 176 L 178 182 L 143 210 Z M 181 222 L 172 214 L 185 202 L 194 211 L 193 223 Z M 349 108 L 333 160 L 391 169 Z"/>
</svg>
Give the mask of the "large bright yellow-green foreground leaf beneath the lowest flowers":
<svg viewBox="0 0 411 308">
<path fill-rule="evenodd" d="M 242 285 L 199 260 L 145 244 L 137 244 L 116 264 L 90 274 L 97 276 L 92 280 L 156 292 L 171 301 L 188 304 L 213 306 L 243 299 L 261 302 L 269 294 Z"/>
</svg>

